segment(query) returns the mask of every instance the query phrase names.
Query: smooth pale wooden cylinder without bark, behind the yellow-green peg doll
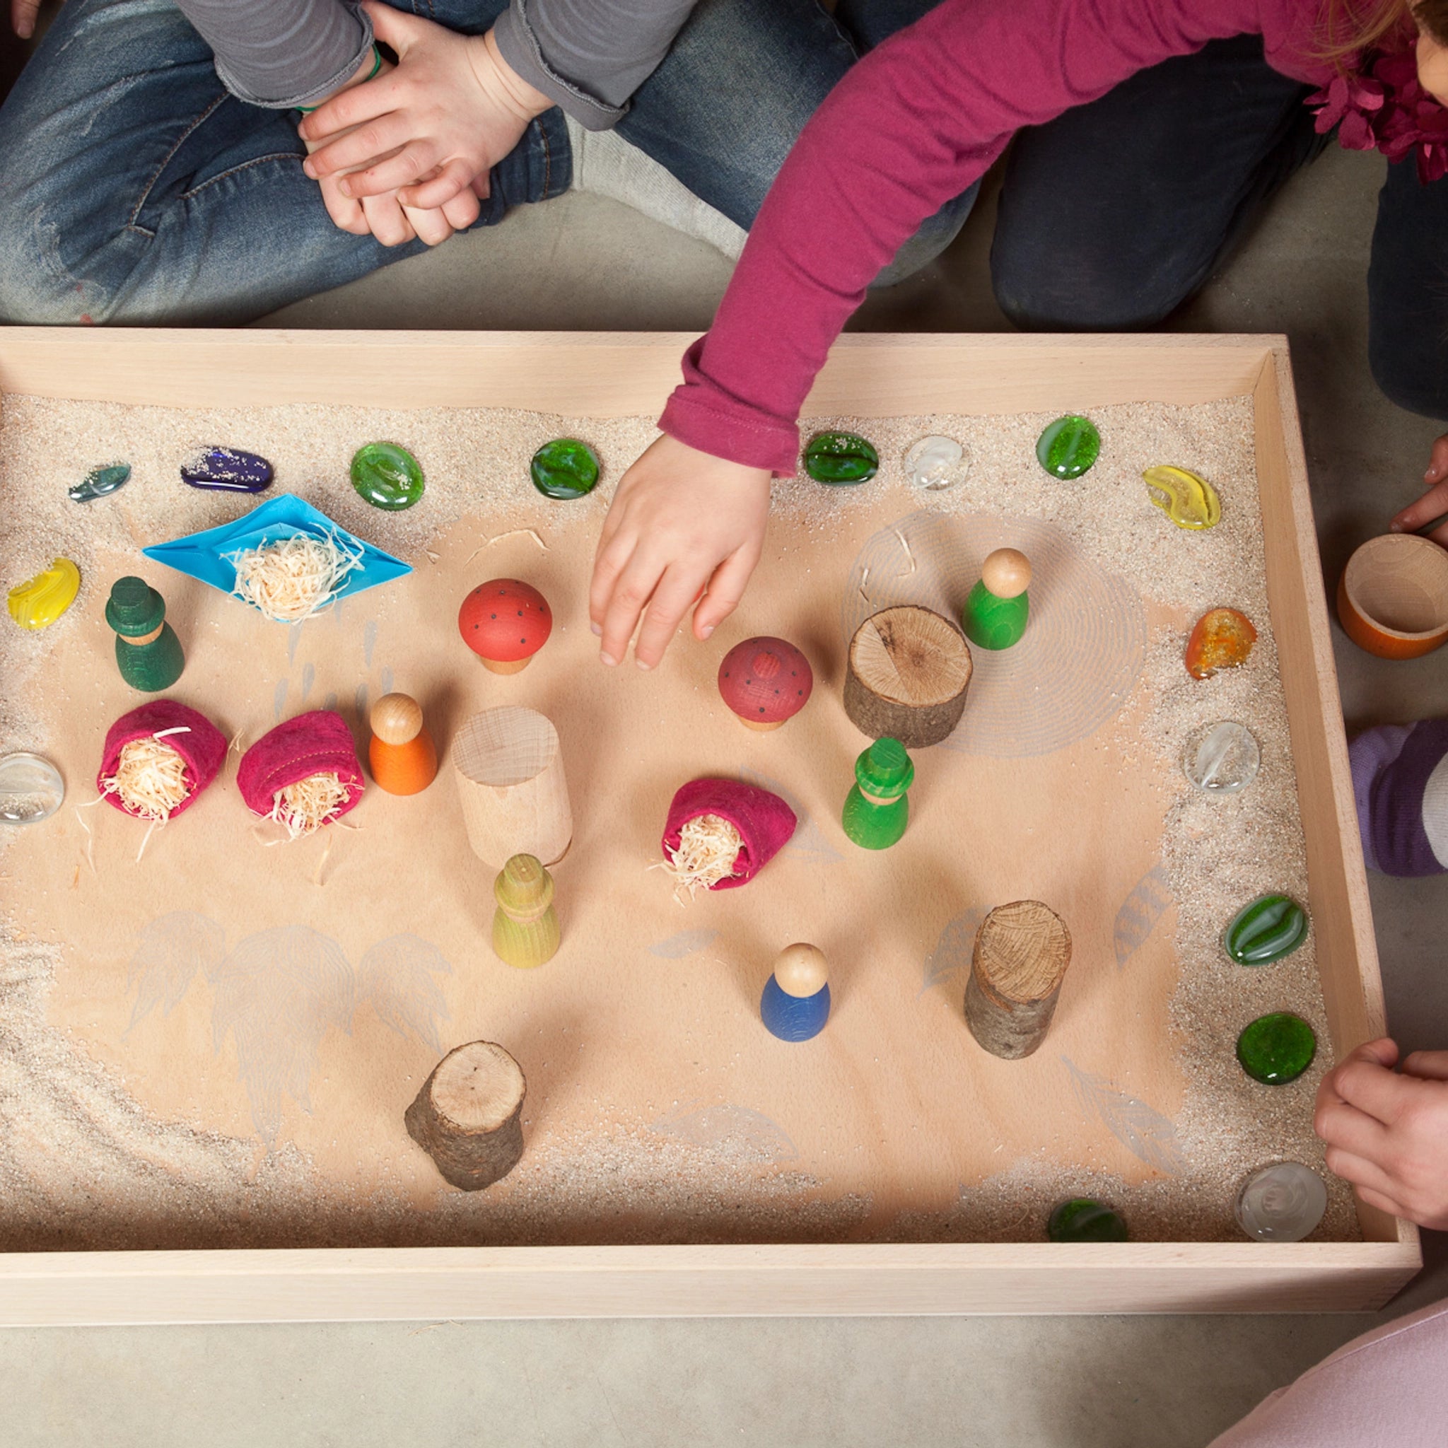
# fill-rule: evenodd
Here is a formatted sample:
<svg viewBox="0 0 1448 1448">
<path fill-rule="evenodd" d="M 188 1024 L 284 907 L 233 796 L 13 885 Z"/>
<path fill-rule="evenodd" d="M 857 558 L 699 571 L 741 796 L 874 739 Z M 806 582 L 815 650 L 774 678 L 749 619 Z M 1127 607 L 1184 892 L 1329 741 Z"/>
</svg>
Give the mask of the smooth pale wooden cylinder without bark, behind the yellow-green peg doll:
<svg viewBox="0 0 1448 1448">
<path fill-rule="evenodd" d="M 573 838 L 557 730 L 534 710 L 473 714 L 453 741 L 453 775 L 472 853 L 501 870 L 514 854 L 556 864 Z"/>
</svg>

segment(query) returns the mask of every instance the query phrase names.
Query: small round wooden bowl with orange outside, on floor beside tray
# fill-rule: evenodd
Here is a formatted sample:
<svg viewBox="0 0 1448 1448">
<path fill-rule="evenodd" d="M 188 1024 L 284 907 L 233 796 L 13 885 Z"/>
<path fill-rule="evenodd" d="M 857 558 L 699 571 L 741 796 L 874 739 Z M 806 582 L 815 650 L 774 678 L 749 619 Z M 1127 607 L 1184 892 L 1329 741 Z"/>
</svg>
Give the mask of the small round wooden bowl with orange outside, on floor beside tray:
<svg viewBox="0 0 1448 1448">
<path fill-rule="evenodd" d="M 1448 550 L 1413 533 L 1368 539 L 1338 581 L 1347 636 L 1380 659 L 1416 659 L 1448 643 Z"/>
</svg>

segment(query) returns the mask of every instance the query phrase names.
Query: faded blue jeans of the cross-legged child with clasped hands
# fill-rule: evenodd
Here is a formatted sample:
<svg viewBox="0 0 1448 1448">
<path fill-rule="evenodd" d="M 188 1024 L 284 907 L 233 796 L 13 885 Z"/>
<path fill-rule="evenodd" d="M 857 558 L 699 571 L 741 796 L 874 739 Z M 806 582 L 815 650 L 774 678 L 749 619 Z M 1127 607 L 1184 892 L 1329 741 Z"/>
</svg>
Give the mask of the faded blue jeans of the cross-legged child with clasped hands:
<svg viewBox="0 0 1448 1448">
<path fill-rule="evenodd" d="M 505 0 L 408 3 L 481 33 Z M 856 56 L 815 0 L 701 0 L 618 129 L 747 227 Z M 0 107 L 0 321 L 246 321 L 423 249 L 339 230 L 295 126 L 230 96 L 168 0 L 70 0 Z M 494 167 L 475 224 L 571 178 L 563 117 L 544 111 Z M 972 198 L 927 223 L 895 274 L 941 251 Z"/>
</svg>

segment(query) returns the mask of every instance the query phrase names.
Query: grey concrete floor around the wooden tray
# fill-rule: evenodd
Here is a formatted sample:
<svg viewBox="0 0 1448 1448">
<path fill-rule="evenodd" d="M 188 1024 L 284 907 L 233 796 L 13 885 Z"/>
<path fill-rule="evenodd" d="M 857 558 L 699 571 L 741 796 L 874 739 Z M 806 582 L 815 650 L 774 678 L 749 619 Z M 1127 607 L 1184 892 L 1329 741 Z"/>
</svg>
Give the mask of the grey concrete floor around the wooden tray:
<svg viewBox="0 0 1448 1448">
<path fill-rule="evenodd" d="M 14 51 L 10 51 L 13 59 Z M 0 46 L 0 94 L 4 90 Z M 1374 388 L 1364 274 L 1381 162 L 1331 151 L 1171 326 L 1286 332 L 1328 578 L 1418 495 L 1441 430 Z M 1002 330 L 993 206 L 870 330 Z M 702 329 L 728 279 L 708 248 L 565 197 L 290 307 L 292 327 Z M 1389 665 L 1337 636 L 1350 730 L 1448 712 L 1448 650 Z M 1389 1018 L 1448 1045 L 1448 876 L 1373 877 Z M 1448 1237 L 1387 1309 L 1448 1295 Z M 1195 1448 L 1374 1316 L 365 1323 L 0 1332 L 6 1448 L 275 1442 Z M 1043 1371 L 1043 1365 L 1048 1370 Z"/>
</svg>

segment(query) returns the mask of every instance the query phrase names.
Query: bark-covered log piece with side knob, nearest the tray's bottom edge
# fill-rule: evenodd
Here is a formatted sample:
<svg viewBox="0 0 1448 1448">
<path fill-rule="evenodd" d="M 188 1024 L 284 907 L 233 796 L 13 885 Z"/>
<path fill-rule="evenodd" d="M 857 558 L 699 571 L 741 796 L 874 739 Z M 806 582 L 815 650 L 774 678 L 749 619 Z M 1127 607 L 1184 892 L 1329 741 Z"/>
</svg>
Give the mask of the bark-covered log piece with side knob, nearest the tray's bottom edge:
<svg viewBox="0 0 1448 1448">
<path fill-rule="evenodd" d="M 505 1177 L 523 1156 L 523 1098 L 518 1063 L 491 1041 L 449 1051 L 407 1108 L 407 1134 L 463 1192 Z"/>
</svg>

